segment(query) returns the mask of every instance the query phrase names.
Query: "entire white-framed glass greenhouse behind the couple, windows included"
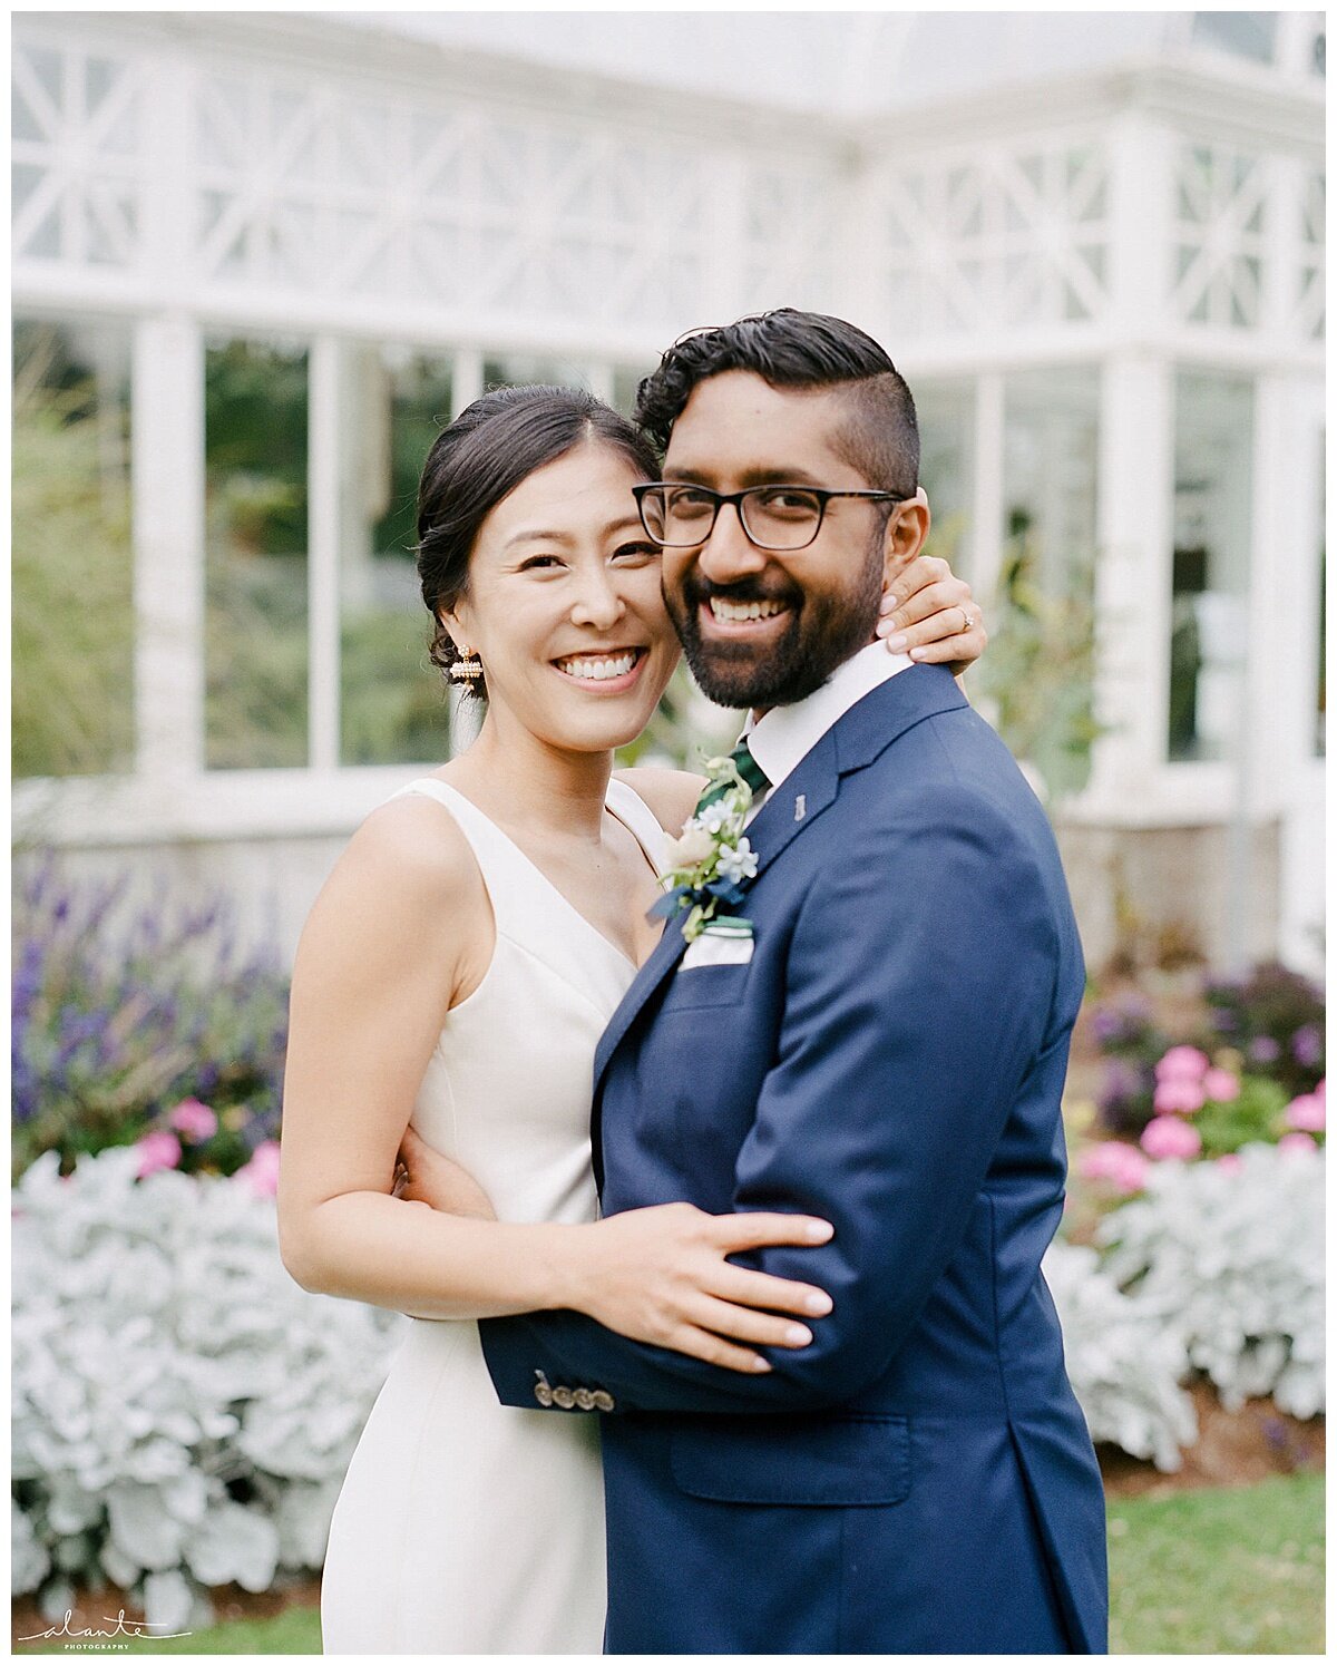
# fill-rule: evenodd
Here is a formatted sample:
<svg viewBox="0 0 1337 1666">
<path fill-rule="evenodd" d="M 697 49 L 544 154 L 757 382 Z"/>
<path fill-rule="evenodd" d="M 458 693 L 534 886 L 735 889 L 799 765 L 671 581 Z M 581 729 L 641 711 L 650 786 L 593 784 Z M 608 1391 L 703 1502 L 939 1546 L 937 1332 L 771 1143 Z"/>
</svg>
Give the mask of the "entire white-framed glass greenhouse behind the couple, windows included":
<svg viewBox="0 0 1337 1666">
<path fill-rule="evenodd" d="M 798 305 L 914 388 L 1092 965 L 1322 963 L 1322 13 L 18 13 L 12 108 L 20 838 L 295 940 L 450 748 L 438 425 Z"/>
</svg>

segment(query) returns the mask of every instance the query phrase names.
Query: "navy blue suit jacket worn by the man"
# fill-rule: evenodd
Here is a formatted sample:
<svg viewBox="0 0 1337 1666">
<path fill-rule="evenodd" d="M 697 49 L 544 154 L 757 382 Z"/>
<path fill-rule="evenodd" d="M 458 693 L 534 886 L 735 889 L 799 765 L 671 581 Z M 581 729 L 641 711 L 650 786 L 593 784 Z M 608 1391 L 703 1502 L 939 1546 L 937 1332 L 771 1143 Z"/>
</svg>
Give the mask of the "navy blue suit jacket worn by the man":
<svg viewBox="0 0 1337 1666">
<path fill-rule="evenodd" d="M 749 838 L 751 961 L 683 970 L 669 921 L 599 1046 L 603 1208 L 824 1216 L 829 1245 L 748 1259 L 834 1311 L 763 1376 L 569 1311 L 481 1324 L 504 1403 L 539 1371 L 613 1399 L 606 1646 L 1104 1651 L 1104 1496 L 1039 1269 L 1084 985 L 1044 811 L 916 666 Z"/>
</svg>

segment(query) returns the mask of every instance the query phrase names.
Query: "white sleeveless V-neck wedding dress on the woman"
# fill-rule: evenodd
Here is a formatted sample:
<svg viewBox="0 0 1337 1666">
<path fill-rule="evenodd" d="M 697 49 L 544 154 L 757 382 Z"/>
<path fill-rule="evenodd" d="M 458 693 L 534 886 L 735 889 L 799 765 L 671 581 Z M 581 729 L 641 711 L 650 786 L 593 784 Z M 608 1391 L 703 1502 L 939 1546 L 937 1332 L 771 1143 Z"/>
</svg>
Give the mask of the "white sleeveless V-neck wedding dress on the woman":
<svg viewBox="0 0 1337 1666">
<path fill-rule="evenodd" d="M 413 1126 L 503 1221 L 591 1221 L 594 1046 L 636 968 L 445 781 L 496 920 L 483 983 L 441 1030 Z M 398 796 L 398 795 L 396 795 Z M 658 865 L 628 786 L 608 808 Z M 353 1453 L 321 1583 L 326 1654 L 598 1654 L 604 1531 L 598 1418 L 498 1403 L 475 1321 L 411 1319 Z"/>
</svg>

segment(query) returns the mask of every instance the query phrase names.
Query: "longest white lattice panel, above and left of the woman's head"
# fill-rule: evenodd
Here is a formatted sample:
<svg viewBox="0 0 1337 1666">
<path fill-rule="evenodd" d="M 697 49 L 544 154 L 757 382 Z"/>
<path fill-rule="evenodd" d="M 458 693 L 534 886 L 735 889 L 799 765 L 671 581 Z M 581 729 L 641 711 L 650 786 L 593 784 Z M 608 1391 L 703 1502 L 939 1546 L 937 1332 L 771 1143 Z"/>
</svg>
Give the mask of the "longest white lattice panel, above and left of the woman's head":
<svg viewBox="0 0 1337 1666">
<path fill-rule="evenodd" d="M 703 153 L 496 113 L 205 78 L 201 277 L 481 313 L 681 318 L 701 290 Z"/>
</svg>

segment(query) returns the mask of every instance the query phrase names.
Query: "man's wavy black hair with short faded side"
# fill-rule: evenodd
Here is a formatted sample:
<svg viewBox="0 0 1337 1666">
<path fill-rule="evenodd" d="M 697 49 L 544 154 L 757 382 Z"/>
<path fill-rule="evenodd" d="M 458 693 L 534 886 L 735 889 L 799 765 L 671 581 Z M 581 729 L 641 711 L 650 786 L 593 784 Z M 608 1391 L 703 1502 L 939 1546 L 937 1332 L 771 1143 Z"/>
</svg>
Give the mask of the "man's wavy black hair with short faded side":
<svg viewBox="0 0 1337 1666">
<path fill-rule="evenodd" d="M 698 382 L 751 370 L 773 388 L 839 388 L 849 418 L 833 443 L 871 486 L 911 498 L 919 485 L 914 400 L 886 352 L 862 330 L 826 313 L 756 313 L 686 335 L 641 383 L 636 421 L 664 450 Z"/>
</svg>

